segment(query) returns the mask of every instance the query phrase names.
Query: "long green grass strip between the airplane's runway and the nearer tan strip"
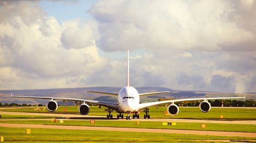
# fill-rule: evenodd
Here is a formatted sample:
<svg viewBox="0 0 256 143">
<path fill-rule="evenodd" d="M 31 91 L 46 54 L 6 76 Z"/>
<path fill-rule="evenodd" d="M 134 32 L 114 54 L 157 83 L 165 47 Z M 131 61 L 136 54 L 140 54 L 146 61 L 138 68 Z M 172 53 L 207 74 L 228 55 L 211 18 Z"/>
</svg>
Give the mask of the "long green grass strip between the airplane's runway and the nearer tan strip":
<svg viewBox="0 0 256 143">
<path fill-rule="evenodd" d="M 256 125 L 240 124 L 217 124 L 206 123 L 206 128 L 201 128 L 201 123 L 178 122 L 176 126 L 162 125 L 162 122 L 140 121 L 90 121 L 64 120 L 64 123 L 54 123 L 50 120 L 22 120 L 22 121 L 1 121 L 0 123 L 11 124 L 44 124 L 44 125 L 68 125 L 68 126 L 98 126 L 98 127 L 127 127 L 127 128 L 152 128 L 152 129 L 184 129 L 184 130 L 208 130 L 208 131 L 237 131 L 237 132 L 256 132 Z"/>
</svg>

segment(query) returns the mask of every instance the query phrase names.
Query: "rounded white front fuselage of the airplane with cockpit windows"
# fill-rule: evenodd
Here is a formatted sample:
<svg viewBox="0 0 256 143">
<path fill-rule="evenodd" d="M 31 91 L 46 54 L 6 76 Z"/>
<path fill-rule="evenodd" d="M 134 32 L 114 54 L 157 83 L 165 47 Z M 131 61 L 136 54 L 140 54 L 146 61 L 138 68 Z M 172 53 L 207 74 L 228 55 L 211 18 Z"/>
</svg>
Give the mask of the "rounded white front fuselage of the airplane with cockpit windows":
<svg viewBox="0 0 256 143">
<path fill-rule="evenodd" d="M 133 87 L 123 87 L 118 93 L 119 112 L 138 112 L 140 97 Z"/>
</svg>

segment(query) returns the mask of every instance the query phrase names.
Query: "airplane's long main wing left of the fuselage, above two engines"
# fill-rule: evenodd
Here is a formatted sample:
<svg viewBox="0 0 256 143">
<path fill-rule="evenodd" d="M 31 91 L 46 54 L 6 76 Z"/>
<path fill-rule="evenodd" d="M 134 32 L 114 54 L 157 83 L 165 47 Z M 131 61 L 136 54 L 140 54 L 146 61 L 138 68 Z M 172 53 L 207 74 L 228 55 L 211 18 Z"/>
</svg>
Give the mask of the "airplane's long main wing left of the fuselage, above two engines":
<svg viewBox="0 0 256 143">
<path fill-rule="evenodd" d="M 87 100 L 87 99 L 76 99 L 76 98 L 59 98 L 59 97 L 36 97 L 36 96 L 12 96 L 16 98 L 36 98 L 36 99 L 49 99 L 49 100 L 62 100 L 62 101 L 77 101 L 77 102 L 86 102 L 94 105 L 101 105 L 104 107 L 108 107 L 114 110 L 118 110 L 118 104 L 117 103 L 111 103 L 111 102 L 102 102 L 102 101 L 96 101 L 96 100 Z"/>
</svg>

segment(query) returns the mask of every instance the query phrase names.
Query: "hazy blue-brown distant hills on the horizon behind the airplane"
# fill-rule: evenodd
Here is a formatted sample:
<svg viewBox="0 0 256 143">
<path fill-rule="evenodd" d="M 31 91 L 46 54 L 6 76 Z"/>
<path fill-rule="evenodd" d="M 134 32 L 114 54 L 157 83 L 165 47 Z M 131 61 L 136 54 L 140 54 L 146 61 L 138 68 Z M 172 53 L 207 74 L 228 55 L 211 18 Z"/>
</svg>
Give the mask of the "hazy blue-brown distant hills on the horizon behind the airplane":
<svg viewBox="0 0 256 143">
<path fill-rule="evenodd" d="M 16 96 L 47 96 L 47 97 L 66 97 L 66 98 L 79 98 L 79 99 L 90 99 L 99 100 L 106 102 L 116 102 L 115 96 L 100 95 L 95 93 L 88 93 L 87 91 L 99 91 L 106 93 L 118 93 L 121 88 L 119 87 L 87 87 L 87 88 L 65 88 L 65 89 L 38 89 L 38 90 L 2 90 L 0 91 L 0 102 L 3 103 L 29 103 L 29 104 L 46 104 L 46 100 L 43 99 L 24 99 L 24 98 L 13 98 L 11 99 L 11 93 Z M 191 97 L 205 97 L 207 96 L 224 96 L 221 93 L 205 92 L 205 91 L 177 91 L 162 87 L 138 87 L 136 88 L 139 93 L 148 92 L 161 92 L 170 91 L 172 93 L 141 96 L 140 102 L 151 102 L 157 101 L 159 98 L 191 98 Z M 207 94 L 206 94 L 207 93 Z M 225 95 L 227 96 L 227 95 Z M 233 96 L 233 94 L 228 94 Z M 58 101 L 61 103 L 62 101 Z M 73 105 L 73 102 L 65 102 L 62 105 Z"/>
</svg>

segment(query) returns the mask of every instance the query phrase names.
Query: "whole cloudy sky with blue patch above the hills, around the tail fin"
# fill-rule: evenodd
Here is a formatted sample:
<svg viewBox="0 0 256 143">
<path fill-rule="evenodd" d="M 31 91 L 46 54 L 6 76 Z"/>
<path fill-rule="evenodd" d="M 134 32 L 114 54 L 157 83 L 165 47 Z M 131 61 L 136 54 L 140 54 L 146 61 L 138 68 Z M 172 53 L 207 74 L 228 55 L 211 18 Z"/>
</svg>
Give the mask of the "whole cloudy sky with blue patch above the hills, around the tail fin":
<svg viewBox="0 0 256 143">
<path fill-rule="evenodd" d="M 256 1 L 0 1 L 0 90 L 256 92 Z"/>
</svg>

